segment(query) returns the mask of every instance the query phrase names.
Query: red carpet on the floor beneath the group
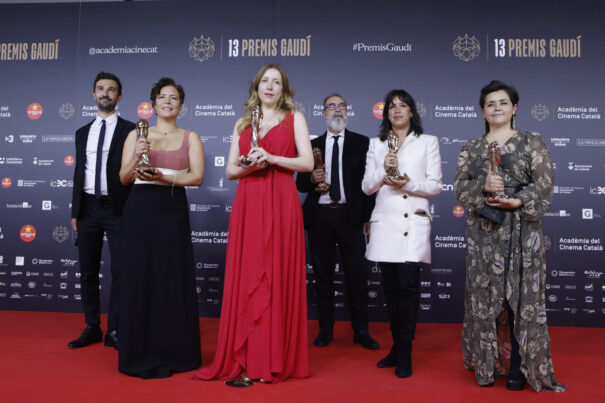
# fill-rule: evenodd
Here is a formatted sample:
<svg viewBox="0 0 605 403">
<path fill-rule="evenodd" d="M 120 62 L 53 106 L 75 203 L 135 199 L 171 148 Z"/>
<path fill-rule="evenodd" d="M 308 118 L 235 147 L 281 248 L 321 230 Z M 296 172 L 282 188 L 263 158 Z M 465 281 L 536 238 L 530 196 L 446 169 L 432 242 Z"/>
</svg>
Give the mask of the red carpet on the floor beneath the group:
<svg viewBox="0 0 605 403">
<path fill-rule="evenodd" d="M 105 321 L 105 319 L 103 319 Z M 202 356 L 214 356 L 217 319 L 201 319 Z M 314 376 L 276 385 L 232 389 L 220 381 L 191 380 L 191 373 L 141 380 L 117 371 L 117 351 L 95 344 L 69 350 L 83 315 L 0 311 L 0 402 L 602 402 L 605 401 L 605 329 L 551 327 L 552 353 L 562 394 L 506 390 L 504 379 L 479 388 L 462 366 L 461 325 L 420 324 L 414 344 L 414 375 L 399 379 L 376 362 L 390 348 L 386 323 L 372 323 L 381 344 L 368 351 L 352 343 L 347 322 L 335 340 L 311 346 Z M 309 322 L 315 337 L 317 323 Z"/>
</svg>

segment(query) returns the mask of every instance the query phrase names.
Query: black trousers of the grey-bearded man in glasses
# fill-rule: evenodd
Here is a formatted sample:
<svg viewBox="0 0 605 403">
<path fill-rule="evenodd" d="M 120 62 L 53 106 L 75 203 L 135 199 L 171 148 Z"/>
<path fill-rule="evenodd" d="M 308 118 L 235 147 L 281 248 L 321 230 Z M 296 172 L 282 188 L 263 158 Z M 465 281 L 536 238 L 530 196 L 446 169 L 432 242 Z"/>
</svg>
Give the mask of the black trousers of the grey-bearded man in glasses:
<svg viewBox="0 0 605 403">
<path fill-rule="evenodd" d="M 336 248 L 341 256 L 340 269 L 345 276 L 351 326 L 356 333 L 368 331 L 368 273 L 366 243 L 361 227 L 351 223 L 347 207 L 318 205 L 313 226 L 308 229 L 313 271 L 316 278 L 319 327 L 334 326 L 334 266 Z"/>
</svg>

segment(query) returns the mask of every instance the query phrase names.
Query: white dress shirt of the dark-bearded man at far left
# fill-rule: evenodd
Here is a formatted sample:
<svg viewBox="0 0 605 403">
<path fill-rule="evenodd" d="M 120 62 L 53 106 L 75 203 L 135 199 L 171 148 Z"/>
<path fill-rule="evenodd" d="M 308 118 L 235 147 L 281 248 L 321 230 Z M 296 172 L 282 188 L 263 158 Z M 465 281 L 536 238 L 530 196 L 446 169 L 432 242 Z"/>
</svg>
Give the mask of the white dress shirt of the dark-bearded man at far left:
<svg viewBox="0 0 605 403">
<path fill-rule="evenodd" d="M 97 166 L 97 145 L 99 135 L 101 134 L 103 118 L 97 115 L 97 118 L 88 131 L 88 141 L 86 142 L 86 165 L 84 168 L 84 191 L 88 194 L 95 194 L 95 167 Z M 103 139 L 103 155 L 101 160 L 101 194 L 107 196 L 107 157 L 113 132 L 118 123 L 118 115 L 113 113 L 105 118 L 105 138 Z"/>
</svg>

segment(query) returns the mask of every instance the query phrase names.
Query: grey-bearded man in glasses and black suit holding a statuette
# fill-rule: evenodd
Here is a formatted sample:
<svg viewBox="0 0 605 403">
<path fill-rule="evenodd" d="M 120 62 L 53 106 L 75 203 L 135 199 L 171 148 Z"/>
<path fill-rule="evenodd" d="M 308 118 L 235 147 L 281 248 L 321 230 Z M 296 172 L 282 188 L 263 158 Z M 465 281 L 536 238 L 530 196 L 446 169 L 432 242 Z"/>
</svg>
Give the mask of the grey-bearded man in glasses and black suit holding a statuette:
<svg viewBox="0 0 605 403">
<path fill-rule="evenodd" d="M 313 342 L 327 346 L 333 339 L 334 267 L 336 246 L 345 274 L 351 306 L 353 342 L 368 349 L 378 343 L 368 331 L 368 261 L 365 259 L 364 226 L 374 204 L 361 190 L 369 139 L 345 129 L 347 104 L 338 94 L 324 99 L 323 116 L 328 131 L 311 144 L 324 156 L 324 167 L 311 173 L 298 173 L 296 186 L 306 192 L 303 204 L 305 228 L 316 278 L 319 335 Z M 327 182 L 330 190 L 316 192 L 318 183 Z"/>
</svg>

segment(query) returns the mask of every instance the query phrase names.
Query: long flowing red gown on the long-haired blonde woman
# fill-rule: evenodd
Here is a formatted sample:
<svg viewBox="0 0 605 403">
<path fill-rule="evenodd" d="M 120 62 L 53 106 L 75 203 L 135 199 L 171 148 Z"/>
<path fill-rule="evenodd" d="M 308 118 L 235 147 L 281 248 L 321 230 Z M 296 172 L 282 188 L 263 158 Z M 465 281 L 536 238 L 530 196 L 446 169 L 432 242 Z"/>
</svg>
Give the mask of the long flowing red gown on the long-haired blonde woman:
<svg viewBox="0 0 605 403">
<path fill-rule="evenodd" d="M 250 150 L 251 128 L 239 139 Z M 273 155 L 296 157 L 294 115 L 259 141 Z M 240 179 L 229 221 L 216 355 L 197 379 L 278 382 L 311 375 L 302 210 L 293 172 L 277 166 Z"/>
</svg>

